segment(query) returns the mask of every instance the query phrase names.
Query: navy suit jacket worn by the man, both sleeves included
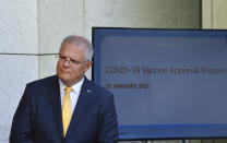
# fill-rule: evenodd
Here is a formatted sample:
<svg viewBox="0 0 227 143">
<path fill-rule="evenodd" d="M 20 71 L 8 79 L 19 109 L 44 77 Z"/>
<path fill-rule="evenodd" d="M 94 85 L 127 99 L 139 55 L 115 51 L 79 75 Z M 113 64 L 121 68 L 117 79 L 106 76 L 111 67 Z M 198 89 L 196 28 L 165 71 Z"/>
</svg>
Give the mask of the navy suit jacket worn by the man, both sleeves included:
<svg viewBox="0 0 227 143">
<path fill-rule="evenodd" d="M 113 96 L 86 78 L 63 138 L 58 80 L 55 75 L 26 85 L 13 118 L 10 143 L 116 143 Z"/>
</svg>

